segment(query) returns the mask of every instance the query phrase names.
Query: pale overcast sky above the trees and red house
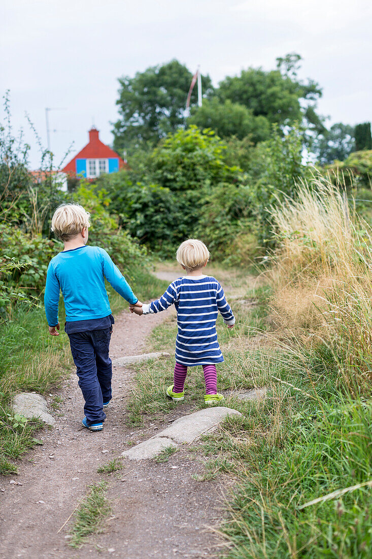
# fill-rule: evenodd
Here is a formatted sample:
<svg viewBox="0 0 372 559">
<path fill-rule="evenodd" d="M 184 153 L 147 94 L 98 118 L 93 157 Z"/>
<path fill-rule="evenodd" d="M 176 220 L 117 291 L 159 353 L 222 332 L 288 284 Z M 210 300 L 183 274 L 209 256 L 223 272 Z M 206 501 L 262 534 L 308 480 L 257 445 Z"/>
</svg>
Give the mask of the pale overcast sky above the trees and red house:
<svg viewBox="0 0 372 559">
<path fill-rule="evenodd" d="M 11 91 L 15 130 L 25 111 L 61 158 L 88 139 L 92 122 L 112 143 L 117 78 L 173 58 L 215 85 L 242 68 L 273 69 L 302 55 L 300 76 L 323 88 L 330 122 L 372 120 L 370 0 L 12 0 L 0 2 L 1 93 Z M 185 97 L 187 92 L 185 92 Z M 1 120 L 3 113 L 1 112 Z M 31 163 L 37 167 L 35 141 Z M 73 156 L 71 154 L 70 158 Z"/>
</svg>

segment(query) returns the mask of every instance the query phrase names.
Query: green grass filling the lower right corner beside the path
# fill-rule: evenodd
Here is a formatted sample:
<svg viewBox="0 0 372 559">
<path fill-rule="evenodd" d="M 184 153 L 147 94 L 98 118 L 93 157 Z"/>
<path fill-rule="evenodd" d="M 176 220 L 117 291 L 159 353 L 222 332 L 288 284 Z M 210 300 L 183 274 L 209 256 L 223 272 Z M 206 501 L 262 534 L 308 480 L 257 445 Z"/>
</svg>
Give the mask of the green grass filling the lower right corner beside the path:
<svg viewBox="0 0 372 559">
<path fill-rule="evenodd" d="M 267 354 L 265 366 L 265 399 L 227 401 L 244 415 L 204 437 L 205 479 L 226 472 L 239 480 L 223 527 L 227 556 L 370 557 L 370 487 L 299 506 L 372 479 L 372 402 L 348 396 L 339 362 L 321 344 Z"/>
</svg>

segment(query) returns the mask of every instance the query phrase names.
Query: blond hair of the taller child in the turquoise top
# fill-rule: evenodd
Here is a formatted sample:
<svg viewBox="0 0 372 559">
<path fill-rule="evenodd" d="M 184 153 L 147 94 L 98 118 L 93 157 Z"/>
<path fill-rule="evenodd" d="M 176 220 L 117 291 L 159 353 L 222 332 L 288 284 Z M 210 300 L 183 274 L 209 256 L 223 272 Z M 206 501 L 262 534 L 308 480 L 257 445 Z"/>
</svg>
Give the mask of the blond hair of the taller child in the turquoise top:
<svg viewBox="0 0 372 559">
<path fill-rule="evenodd" d="M 52 217 L 51 230 L 61 241 L 69 241 L 90 226 L 89 217 L 80 204 L 61 204 Z"/>
</svg>

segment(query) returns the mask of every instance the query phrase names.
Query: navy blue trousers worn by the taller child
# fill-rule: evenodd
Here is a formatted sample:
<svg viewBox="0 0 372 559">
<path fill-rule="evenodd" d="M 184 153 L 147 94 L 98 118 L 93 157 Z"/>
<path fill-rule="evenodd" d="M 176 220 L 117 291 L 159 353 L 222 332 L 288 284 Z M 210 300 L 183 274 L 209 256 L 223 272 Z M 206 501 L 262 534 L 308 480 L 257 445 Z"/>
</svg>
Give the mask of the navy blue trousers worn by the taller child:
<svg viewBox="0 0 372 559">
<path fill-rule="evenodd" d="M 88 425 L 106 419 L 103 402 L 112 398 L 112 366 L 108 357 L 111 334 L 112 328 L 68 334 Z"/>
</svg>

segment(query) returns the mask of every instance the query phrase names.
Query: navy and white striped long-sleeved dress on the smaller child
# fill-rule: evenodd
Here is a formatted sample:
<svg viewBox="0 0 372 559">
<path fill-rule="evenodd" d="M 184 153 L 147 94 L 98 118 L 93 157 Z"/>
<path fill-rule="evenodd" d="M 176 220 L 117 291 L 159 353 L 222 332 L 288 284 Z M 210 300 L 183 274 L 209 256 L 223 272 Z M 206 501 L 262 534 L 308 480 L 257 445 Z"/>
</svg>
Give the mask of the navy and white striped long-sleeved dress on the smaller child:
<svg viewBox="0 0 372 559">
<path fill-rule="evenodd" d="M 222 363 L 216 320 L 221 312 L 225 324 L 235 323 L 225 293 L 211 276 L 185 276 L 173 281 L 160 299 L 143 305 L 144 314 L 161 312 L 170 305 L 177 310 L 175 360 L 187 367 Z"/>
</svg>

